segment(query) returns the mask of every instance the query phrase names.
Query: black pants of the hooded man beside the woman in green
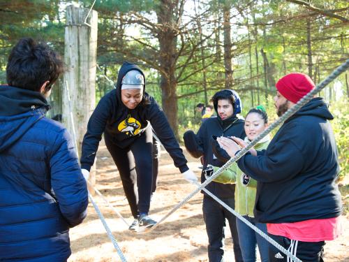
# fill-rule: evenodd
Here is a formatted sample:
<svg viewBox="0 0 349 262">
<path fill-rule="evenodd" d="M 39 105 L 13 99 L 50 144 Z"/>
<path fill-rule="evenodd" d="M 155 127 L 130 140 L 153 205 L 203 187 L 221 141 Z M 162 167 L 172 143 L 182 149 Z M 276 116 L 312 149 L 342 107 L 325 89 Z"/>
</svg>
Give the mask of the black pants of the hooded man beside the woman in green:
<svg viewBox="0 0 349 262">
<path fill-rule="evenodd" d="M 233 195 L 234 196 L 234 195 Z M 235 198 L 221 199 L 230 208 L 235 208 Z M 242 253 L 237 235 L 237 224 L 235 215 L 223 208 L 222 205 L 214 201 L 209 196 L 204 195 L 202 203 L 202 212 L 206 224 L 206 231 L 209 237 L 209 262 L 222 262 L 224 254 L 224 228 L 225 219 L 228 219 L 230 232 L 232 234 L 232 244 L 236 262 L 243 262 Z"/>
</svg>

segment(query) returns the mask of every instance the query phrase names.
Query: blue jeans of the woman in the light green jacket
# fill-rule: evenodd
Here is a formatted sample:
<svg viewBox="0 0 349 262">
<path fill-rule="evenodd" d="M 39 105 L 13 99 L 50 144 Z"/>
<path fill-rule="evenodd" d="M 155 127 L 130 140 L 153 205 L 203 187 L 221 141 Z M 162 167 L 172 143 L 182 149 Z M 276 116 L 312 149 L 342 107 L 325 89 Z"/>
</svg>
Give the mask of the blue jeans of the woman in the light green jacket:
<svg viewBox="0 0 349 262">
<path fill-rule="evenodd" d="M 257 226 L 262 232 L 267 234 L 267 224 L 256 223 L 254 217 L 244 216 L 251 224 Z M 262 238 L 252 228 L 247 226 L 243 221 L 237 218 L 237 232 L 239 235 L 240 249 L 244 262 L 255 262 L 257 245 L 260 251 L 260 260 L 269 261 L 269 243 Z"/>
</svg>

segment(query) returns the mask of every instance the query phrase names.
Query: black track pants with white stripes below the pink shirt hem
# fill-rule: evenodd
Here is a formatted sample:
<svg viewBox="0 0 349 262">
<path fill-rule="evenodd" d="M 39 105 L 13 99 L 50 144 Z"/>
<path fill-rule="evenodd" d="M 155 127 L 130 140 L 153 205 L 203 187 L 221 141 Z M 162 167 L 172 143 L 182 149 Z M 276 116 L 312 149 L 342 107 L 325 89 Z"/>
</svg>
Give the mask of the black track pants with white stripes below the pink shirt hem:
<svg viewBox="0 0 349 262">
<path fill-rule="evenodd" d="M 320 242 L 302 242 L 290 240 L 281 235 L 271 235 L 269 237 L 278 242 L 281 246 L 288 249 L 291 254 L 297 256 L 303 262 L 323 262 L 325 241 Z M 270 262 L 288 262 L 292 259 L 283 254 L 274 245 L 269 245 L 269 261 Z"/>
</svg>

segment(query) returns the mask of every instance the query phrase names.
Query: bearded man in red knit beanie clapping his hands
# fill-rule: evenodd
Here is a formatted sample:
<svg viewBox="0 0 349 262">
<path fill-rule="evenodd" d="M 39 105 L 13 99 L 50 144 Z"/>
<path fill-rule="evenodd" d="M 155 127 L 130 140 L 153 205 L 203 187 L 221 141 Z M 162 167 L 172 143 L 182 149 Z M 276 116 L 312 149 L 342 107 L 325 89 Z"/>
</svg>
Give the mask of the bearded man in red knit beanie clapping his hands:
<svg viewBox="0 0 349 262">
<path fill-rule="evenodd" d="M 314 86 L 302 73 L 281 78 L 274 98 L 277 114 L 283 115 Z M 285 120 L 267 150 L 257 156 L 247 153 L 237 161 L 246 175 L 258 181 L 256 221 L 267 223 L 271 238 L 307 262 L 322 262 L 325 241 L 341 233 L 339 161 L 329 124 L 333 118 L 325 101 L 314 97 Z M 230 157 L 240 150 L 229 138 L 219 142 Z M 286 261 L 288 256 L 269 245 L 269 262 Z"/>
</svg>

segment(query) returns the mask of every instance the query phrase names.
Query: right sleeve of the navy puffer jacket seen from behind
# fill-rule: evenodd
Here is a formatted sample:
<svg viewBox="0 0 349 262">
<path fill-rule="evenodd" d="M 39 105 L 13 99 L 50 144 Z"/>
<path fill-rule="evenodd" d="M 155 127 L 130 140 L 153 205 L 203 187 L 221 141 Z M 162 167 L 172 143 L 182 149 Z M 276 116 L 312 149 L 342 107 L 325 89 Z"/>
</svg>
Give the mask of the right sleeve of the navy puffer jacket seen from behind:
<svg viewBox="0 0 349 262">
<path fill-rule="evenodd" d="M 52 189 L 61 214 L 70 227 L 77 226 L 87 215 L 88 191 L 73 140 L 66 129 L 59 133 L 54 142 L 50 168 Z"/>
</svg>

